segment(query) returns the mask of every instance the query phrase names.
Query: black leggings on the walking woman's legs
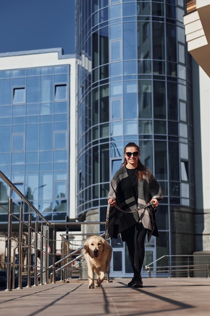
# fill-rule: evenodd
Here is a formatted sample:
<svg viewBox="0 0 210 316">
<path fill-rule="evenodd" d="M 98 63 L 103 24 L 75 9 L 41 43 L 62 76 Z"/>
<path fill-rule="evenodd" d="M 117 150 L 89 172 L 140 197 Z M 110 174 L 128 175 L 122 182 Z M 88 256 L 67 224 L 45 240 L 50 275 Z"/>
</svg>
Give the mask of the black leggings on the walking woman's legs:
<svg viewBox="0 0 210 316">
<path fill-rule="evenodd" d="M 123 231 L 122 234 L 127 244 L 133 274 L 141 274 L 145 258 L 145 237 L 147 229 L 145 229 L 142 224 L 137 223 Z"/>
</svg>

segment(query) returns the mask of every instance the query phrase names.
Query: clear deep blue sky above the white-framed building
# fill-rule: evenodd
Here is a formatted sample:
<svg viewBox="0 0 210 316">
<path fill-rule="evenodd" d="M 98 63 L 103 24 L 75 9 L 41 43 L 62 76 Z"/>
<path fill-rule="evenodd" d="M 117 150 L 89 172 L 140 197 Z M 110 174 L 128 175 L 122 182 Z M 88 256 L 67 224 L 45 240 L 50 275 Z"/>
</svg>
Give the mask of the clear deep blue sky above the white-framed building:
<svg viewBox="0 0 210 316">
<path fill-rule="evenodd" d="M 54 47 L 75 54 L 75 0 L 0 0 L 0 53 Z"/>
</svg>

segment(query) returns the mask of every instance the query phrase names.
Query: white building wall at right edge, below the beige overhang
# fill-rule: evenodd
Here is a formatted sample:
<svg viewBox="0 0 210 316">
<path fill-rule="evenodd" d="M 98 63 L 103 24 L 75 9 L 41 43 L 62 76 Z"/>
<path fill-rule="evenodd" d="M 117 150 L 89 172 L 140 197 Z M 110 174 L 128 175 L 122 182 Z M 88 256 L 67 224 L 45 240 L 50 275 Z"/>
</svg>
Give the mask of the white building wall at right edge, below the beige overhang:
<svg viewBox="0 0 210 316">
<path fill-rule="evenodd" d="M 210 251 L 210 78 L 194 63 L 194 156 L 196 251 Z"/>
</svg>

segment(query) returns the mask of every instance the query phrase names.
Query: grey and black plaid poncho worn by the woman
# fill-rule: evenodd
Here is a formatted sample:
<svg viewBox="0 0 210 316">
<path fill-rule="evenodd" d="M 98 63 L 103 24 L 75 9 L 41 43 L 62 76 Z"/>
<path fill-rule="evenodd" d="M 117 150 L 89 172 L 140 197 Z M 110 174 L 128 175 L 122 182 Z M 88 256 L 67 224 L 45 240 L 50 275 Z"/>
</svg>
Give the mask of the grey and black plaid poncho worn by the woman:
<svg viewBox="0 0 210 316">
<path fill-rule="evenodd" d="M 138 180 L 138 196 L 137 204 L 133 196 L 131 182 L 127 173 L 127 168 L 122 166 L 114 175 L 110 182 L 110 190 L 108 199 L 111 197 L 116 200 L 116 204 L 126 212 L 130 212 L 141 205 L 147 204 L 152 198 L 161 200 L 162 189 L 158 181 L 155 179 L 152 171 L 144 166 L 146 174 L 142 180 Z M 142 209 L 134 213 L 124 213 L 111 207 L 108 232 L 111 238 L 117 238 L 117 235 L 127 228 L 142 222 L 143 226 L 148 229 L 148 240 L 151 235 L 159 236 L 156 226 L 155 212 L 150 212 L 150 209 Z"/>
</svg>

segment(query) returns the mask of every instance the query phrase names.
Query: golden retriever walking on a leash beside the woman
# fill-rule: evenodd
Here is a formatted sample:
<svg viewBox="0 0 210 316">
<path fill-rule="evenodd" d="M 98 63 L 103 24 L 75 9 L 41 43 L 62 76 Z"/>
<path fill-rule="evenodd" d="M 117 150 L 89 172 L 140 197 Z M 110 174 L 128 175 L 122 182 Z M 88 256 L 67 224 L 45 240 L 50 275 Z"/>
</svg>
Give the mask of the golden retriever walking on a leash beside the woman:
<svg viewBox="0 0 210 316">
<path fill-rule="evenodd" d="M 94 235 L 85 241 L 83 254 L 88 266 L 88 288 L 94 288 L 94 272 L 97 275 L 95 287 L 100 287 L 110 265 L 112 247 L 104 238 Z"/>
</svg>

